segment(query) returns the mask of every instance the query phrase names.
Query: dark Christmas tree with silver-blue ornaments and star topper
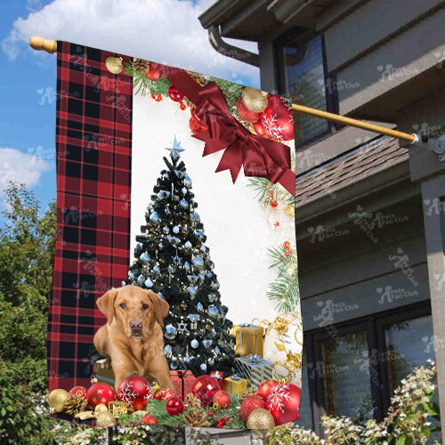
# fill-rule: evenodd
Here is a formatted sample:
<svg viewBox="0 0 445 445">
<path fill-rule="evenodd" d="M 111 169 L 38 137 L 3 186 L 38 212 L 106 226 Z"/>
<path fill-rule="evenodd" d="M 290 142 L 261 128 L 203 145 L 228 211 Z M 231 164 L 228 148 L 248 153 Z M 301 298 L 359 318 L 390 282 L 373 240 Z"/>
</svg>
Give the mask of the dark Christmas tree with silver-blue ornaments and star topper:
<svg viewBox="0 0 445 445">
<path fill-rule="evenodd" d="M 165 353 L 172 370 L 195 375 L 230 373 L 235 359 L 233 324 L 221 303 L 214 263 L 176 141 L 153 188 L 146 224 L 136 236 L 125 284 L 151 289 L 170 304 L 164 320 Z"/>
</svg>

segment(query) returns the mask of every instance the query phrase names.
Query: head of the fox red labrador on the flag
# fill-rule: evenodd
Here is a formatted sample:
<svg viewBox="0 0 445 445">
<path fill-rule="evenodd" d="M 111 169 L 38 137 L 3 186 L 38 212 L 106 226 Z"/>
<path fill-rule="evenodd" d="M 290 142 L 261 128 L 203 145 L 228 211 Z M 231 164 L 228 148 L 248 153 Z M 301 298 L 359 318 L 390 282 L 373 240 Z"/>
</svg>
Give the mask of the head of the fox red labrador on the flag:
<svg viewBox="0 0 445 445">
<path fill-rule="evenodd" d="M 157 320 L 164 327 L 164 318 L 170 309 L 152 290 L 133 285 L 113 287 L 96 303 L 108 324 L 118 325 L 128 337 L 149 336 Z"/>
</svg>

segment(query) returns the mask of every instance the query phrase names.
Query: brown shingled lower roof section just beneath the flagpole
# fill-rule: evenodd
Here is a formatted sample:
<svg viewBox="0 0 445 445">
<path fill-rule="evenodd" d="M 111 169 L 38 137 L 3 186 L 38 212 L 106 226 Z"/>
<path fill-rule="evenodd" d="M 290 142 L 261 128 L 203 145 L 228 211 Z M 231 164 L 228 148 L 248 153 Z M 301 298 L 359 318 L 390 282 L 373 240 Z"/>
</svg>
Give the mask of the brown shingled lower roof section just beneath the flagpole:
<svg viewBox="0 0 445 445">
<path fill-rule="evenodd" d="M 308 204 L 408 160 L 408 150 L 378 137 L 296 179 L 295 206 Z"/>
</svg>

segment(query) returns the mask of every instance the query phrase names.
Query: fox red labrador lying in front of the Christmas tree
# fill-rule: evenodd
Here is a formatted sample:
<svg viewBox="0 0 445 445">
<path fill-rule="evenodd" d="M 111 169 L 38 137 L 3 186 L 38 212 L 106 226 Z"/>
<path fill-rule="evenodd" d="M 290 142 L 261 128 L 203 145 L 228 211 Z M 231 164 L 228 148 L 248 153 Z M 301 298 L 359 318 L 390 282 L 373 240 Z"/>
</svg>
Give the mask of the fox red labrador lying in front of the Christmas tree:
<svg viewBox="0 0 445 445">
<path fill-rule="evenodd" d="M 96 332 L 93 343 L 113 368 L 116 391 L 125 377 L 136 374 L 175 393 L 161 328 L 168 303 L 153 291 L 133 285 L 113 287 L 96 303 L 107 324 Z"/>
</svg>

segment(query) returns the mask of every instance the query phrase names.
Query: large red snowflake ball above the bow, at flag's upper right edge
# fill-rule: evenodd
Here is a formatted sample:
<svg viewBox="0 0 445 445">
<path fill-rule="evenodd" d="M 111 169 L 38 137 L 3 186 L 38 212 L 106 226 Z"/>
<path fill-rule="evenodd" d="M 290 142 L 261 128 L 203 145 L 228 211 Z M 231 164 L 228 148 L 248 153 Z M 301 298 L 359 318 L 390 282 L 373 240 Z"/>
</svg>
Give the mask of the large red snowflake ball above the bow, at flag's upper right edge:
<svg viewBox="0 0 445 445">
<path fill-rule="evenodd" d="M 292 108 L 276 94 L 267 100 L 267 107 L 260 114 L 259 122 L 271 138 L 278 141 L 290 141 L 295 138 Z"/>
</svg>

